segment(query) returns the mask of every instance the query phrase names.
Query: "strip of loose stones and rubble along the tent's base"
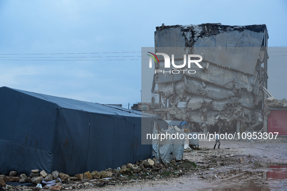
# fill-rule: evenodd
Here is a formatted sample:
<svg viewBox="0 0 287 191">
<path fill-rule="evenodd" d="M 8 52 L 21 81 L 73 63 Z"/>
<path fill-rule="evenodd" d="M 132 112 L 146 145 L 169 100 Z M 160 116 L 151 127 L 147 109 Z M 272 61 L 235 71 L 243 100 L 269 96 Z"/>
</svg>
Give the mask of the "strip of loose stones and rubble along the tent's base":
<svg viewBox="0 0 287 191">
<path fill-rule="evenodd" d="M 118 169 L 105 169 L 104 171 L 85 172 L 69 176 L 58 171 L 47 174 L 44 170 L 32 170 L 29 176 L 16 171 L 11 171 L 9 176 L 0 175 L 0 187 L 9 191 L 32 191 L 32 190 L 72 190 L 84 187 L 115 185 L 117 183 L 137 182 L 148 179 L 167 178 L 184 175 L 189 170 L 195 169 L 196 164 L 187 159 L 163 164 L 158 163 L 156 158 L 136 161 L 135 164 L 125 164 Z M 31 183 L 33 186 L 12 186 L 11 182 Z M 11 185 L 10 185 L 11 184 Z M 35 187 L 35 185 L 37 185 Z"/>
</svg>

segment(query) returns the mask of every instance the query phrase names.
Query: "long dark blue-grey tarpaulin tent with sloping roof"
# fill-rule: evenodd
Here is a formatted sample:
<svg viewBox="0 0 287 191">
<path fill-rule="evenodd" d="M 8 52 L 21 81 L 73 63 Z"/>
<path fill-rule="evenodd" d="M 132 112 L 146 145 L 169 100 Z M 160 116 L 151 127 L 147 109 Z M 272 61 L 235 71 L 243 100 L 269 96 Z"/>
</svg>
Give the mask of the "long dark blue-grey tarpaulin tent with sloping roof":
<svg viewBox="0 0 287 191">
<path fill-rule="evenodd" d="M 152 145 L 141 144 L 142 117 L 152 130 L 153 115 L 1 87 L 0 174 L 75 175 L 151 158 Z"/>
</svg>

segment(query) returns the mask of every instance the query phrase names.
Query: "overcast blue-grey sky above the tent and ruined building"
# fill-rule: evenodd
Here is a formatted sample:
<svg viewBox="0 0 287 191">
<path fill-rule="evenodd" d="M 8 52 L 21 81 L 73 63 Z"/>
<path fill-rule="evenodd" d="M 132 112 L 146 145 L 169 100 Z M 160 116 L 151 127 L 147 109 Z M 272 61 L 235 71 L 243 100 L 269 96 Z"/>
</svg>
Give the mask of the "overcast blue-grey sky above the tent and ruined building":
<svg viewBox="0 0 287 191">
<path fill-rule="evenodd" d="M 156 26 L 266 24 L 268 46 L 287 47 L 286 19 L 286 0 L 0 0 L 0 87 L 127 108 L 140 102 L 140 51 Z M 287 98 L 282 49 L 268 63 L 277 99 Z"/>
</svg>

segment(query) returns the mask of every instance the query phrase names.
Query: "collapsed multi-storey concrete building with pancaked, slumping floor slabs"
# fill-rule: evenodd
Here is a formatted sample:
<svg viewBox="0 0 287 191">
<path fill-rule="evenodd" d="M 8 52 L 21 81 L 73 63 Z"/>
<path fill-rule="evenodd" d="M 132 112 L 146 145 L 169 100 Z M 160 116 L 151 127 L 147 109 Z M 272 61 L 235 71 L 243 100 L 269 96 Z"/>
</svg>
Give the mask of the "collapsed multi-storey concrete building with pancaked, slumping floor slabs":
<svg viewBox="0 0 287 191">
<path fill-rule="evenodd" d="M 267 89 L 268 79 L 267 45 L 264 24 L 156 27 L 155 54 L 172 53 L 165 48 L 183 48 L 183 51 L 174 49 L 179 54 L 173 53 L 172 62 L 177 65 L 184 62 L 181 52 L 185 56 L 198 54 L 203 56 L 200 62 L 203 68 L 195 64 L 187 68 L 186 64 L 182 70 L 194 69 L 196 73 L 155 72 L 152 93 L 159 95 L 159 108 L 154 111 L 165 120 L 186 121 L 192 131 L 225 133 L 262 129 L 267 98 L 263 91 Z M 158 59 L 155 70 L 164 70 L 163 56 L 158 55 Z"/>
</svg>

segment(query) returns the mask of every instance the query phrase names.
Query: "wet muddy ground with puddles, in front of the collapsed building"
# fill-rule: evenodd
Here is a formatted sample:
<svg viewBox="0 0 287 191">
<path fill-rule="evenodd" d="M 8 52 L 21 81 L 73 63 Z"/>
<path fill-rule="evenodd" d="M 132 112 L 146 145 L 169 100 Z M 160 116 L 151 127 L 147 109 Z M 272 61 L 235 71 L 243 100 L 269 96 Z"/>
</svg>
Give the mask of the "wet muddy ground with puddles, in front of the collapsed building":
<svg viewBox="0 0 287 191">
<path fill-rule="evenodd" d="M 286 191 L 287 143 L 281 140 L 200 141 L 201 150 L 188 150 L 184 159 L 196 168 L 180 176 L 129 180 L 86 187 L 84 191 Z"/>
</svg>

